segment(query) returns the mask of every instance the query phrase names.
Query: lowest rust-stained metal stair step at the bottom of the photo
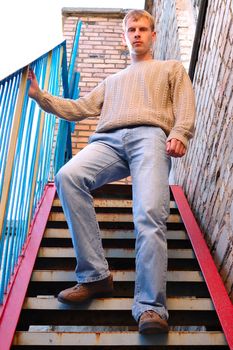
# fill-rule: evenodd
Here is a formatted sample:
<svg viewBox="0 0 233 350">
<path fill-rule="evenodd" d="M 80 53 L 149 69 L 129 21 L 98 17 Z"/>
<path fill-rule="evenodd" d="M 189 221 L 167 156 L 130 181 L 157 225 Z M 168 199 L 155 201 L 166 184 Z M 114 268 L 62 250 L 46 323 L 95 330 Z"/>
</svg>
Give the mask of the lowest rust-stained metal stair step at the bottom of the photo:
<svg viewBox="0 0 233 350">
<path fill-rule="evenodd" d="M 226 346 L 221 332 L 175 332 L 142 336 L 138 332 L 16 332 L 13 345 L 23 346 L 153 346 L 161 350 L 162 346 Z M 201 348 L 202 349 L 202 348 Z"/>
</svg>

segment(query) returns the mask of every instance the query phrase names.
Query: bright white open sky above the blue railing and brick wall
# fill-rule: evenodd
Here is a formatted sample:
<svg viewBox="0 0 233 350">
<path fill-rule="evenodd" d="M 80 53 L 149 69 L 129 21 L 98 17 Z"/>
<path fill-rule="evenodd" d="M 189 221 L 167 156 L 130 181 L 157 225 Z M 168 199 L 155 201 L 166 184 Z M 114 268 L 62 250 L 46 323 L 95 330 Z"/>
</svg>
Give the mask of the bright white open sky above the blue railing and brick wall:
<svg viewBox="0 0 233 350">
<path fill-rule="evenodd" d="M 144 0 L 0 0 L 0 80 L 63 41 L 63 7 L 144 8 Z"/>
</svg>

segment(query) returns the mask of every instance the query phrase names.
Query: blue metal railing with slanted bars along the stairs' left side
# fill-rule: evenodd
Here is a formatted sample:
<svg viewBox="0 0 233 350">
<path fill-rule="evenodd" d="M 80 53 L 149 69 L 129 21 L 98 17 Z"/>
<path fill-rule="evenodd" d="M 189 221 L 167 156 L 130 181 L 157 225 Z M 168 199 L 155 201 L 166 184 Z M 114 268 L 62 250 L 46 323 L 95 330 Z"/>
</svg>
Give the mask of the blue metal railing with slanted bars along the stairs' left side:
<svg viewBox="0 0 233 350">
<path fill-rule="evenodd" d="M 79 38 L 81 23 L 77 28 L 75 40 Z M 71 62 L 76 54 L 77 47 Z M 62 90 L 64 97 L 73 98 L 71 91 L 78 90 L 74 65 L 68 73 L 65 42 L 30 67 L 40 87 L 54 95 L 60 95 Z M 44 113 L 28 98 L 28 69 L 20 69 L 0 82 L 0 304 L 44 188 L 72 156 L 72 124 L 59 120 L 57 126 L 55 116 Z M 73 83 L 69 84 L 71 79 Z"/>
</svg>

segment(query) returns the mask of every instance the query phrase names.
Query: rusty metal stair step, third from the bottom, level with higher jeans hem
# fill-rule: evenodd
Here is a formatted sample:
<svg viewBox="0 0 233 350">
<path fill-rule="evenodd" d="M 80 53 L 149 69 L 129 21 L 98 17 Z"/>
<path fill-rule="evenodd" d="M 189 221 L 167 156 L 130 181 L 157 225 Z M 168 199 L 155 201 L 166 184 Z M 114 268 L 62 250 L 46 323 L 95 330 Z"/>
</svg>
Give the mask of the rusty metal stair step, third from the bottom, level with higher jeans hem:
<svg viewBox="0 0 233 350">
<path fill-rule="evenodd" d="M 134 282 L 135 271 L 111 271 L 114 282 Z M 74 282 L 76 275 L 74 271 L 66 270 L 34 270 L 31 281 L 33 282 Z M 200 271 L 168 271 L 168 282 L 203 282 L 203 276 Z"/>
</svg>

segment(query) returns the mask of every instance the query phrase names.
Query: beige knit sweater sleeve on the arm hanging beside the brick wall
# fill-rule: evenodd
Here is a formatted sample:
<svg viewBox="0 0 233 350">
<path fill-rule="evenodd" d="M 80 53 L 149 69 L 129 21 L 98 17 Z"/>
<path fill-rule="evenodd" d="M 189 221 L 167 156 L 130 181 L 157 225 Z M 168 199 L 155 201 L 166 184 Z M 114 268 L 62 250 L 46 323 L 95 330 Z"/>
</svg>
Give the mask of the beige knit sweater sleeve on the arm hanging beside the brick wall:
<svg viewBox="0 0 233 350">
<path fill-rule="evenodd" d="M 175 123 L 167 140 L 175 138 L 187 147 L 194 133 L 195 96 L 191 80 L 180 62 L 176 62 L 170 86 Z"/>
</svg>

